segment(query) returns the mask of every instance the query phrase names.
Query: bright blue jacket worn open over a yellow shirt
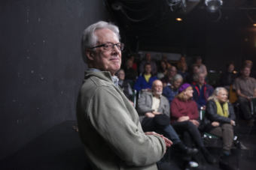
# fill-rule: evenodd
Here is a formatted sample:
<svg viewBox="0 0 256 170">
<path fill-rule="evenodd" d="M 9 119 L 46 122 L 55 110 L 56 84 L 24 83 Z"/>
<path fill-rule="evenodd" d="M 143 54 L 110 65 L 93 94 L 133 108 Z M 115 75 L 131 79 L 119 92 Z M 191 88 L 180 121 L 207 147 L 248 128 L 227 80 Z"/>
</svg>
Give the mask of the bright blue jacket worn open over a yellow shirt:
<svg viewBox="0 0 256 170">
<path fill-rule="evenodd" d="M 151 78 L 149 79 L 149 81 L 147 82 L 144 78 L 144 75 L 139 76 L 138 79 L 136 79 L 136 82 L 133 86 L 133 88 L 136 91 L 140 91 L 142 89 L 146 89 L 146 88 L 151 88 L 152 83 L 154 82 L 154 80 L 157 79 L 157 76 L 151 76 Z"/>
</svg>

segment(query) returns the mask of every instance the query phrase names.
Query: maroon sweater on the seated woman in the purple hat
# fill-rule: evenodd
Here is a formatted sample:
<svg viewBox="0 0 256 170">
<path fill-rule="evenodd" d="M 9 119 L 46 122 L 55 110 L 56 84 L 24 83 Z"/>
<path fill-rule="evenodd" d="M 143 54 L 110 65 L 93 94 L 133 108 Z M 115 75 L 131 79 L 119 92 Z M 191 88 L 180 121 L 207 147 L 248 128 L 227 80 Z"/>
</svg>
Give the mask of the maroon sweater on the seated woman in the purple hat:
<svg viewBox="0 0 256 170">
<path fill-rule="evenodd" d="M 197 103 L 194 100 L 184 102 L 175 97 L 171 103 L 171 122 L 177 121 L 181 116 L 188 116 L 190 120 L 197 120 L 199 118 Z"/>
</svg>

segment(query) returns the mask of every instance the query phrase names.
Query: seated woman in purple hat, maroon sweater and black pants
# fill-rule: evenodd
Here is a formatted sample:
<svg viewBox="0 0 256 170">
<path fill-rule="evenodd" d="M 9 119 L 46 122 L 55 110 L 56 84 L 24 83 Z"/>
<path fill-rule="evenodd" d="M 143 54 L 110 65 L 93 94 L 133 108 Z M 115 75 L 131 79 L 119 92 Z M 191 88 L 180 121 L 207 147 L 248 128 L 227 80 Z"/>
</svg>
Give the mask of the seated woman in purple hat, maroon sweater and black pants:
<svg viewBox="0 0 256 170">
<path fill-rule="evenodd" d="M 216 163 L 215 158 L 209 154 L 209 151 L 203 145 L 203 140 L 198 130 L 200 125 L 197 121 L 199 114 L 197 103 L 192 100 L 193 88 L 190 84 L 184 83 L 178 89 L 178 92 L 179 94 L 172 100 L 171 104 L 172 127 L 174 127 L 177 133 L 184 136 L 183 141 L 185 145 L 191 147 L 192 142 L 194 142 L 208 163 Z"/>
</svg>

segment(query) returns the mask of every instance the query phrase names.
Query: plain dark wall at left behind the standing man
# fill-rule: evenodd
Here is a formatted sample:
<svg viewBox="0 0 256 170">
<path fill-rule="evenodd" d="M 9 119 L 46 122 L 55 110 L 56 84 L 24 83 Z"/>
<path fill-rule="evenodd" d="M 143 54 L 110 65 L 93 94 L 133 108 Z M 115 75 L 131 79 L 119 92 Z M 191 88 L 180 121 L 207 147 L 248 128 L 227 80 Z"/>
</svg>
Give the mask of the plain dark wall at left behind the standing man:
<svg viewBox="0 0 256 170">
<path fill-rule="evenodd" d="M 81 33 L 107 18 L 100 0 L 0 2 L 0 159 L 75 120 L 86 67 Z"/>
</svg>

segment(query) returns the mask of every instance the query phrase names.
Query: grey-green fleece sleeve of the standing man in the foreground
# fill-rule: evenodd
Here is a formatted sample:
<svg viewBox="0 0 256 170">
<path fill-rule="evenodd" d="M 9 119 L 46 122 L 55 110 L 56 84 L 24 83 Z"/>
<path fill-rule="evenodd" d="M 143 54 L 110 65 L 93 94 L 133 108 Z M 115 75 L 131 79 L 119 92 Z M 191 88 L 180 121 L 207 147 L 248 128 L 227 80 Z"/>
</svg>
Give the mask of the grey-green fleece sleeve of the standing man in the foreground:
<svg viewBox="0 0 256 170">
<path fill-rule="evenodd" d="M 97 88 L 88 107 L 90 122 L 111 150 L 130 166 L 147 166 L 159 161 L 166 150 L 159 136 L 146 136 L 126 109 L 113 87 Z"/>
</svg>

